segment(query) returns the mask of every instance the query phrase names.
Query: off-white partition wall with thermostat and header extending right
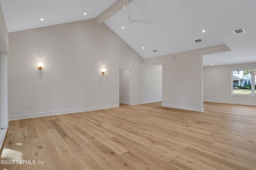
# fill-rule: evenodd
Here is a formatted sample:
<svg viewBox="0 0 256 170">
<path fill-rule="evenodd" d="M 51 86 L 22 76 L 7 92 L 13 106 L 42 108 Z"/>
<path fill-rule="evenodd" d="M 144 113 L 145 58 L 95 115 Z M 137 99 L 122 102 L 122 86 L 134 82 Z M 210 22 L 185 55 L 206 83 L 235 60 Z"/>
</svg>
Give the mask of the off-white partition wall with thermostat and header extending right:
<svg viewBox="0 0 256 170">
<path fill-rule="evenodd" d="M 162 106 L 203 111 L 202 55 L 229 50 L 223 44 L 145 59 L 162 63 Z"/>
</svg>

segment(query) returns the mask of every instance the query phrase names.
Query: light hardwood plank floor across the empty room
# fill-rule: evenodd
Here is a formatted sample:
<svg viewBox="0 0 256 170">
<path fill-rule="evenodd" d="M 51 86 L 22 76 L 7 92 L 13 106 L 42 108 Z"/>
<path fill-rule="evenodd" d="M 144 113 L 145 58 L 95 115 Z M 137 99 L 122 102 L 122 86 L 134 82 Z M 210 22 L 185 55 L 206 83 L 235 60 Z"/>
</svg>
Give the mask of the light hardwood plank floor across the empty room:
<svg viewBox="0 0 256 170">
<path fill-rule="evenodd" d="M 255 170 L 256 107 L 157 102 L 15 120 L 3 147 L 1 160 L 32 163 L 8 170 Z"/>
</svg>

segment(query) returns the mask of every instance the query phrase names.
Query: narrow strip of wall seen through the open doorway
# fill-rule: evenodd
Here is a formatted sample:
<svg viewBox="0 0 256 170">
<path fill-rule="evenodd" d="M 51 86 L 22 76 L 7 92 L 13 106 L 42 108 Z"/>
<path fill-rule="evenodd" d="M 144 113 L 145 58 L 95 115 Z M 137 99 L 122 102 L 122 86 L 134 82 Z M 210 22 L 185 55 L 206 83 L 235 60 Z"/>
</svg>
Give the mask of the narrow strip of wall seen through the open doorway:
<svg viewBox="0 0 256 170">
<path fill-rule="evenodd" d="M 119 70 L 119 103 L 129 104 L 130 70 Z"/>
</svg>

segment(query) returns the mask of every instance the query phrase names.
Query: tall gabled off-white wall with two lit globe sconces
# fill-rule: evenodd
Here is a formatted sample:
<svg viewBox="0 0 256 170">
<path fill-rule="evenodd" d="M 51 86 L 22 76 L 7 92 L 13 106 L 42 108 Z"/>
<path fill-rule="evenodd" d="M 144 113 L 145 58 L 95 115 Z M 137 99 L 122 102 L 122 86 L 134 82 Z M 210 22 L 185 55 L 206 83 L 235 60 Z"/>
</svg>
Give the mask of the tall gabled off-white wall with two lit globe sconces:
<svg viewBox="0 0 256 170">
<path fill-rule="evenodd" d="M 10 119 L 118 107 L 122 67 L 131 69 L 133 104 L 159 99 L 145 96 L 142 57 L 94 19 L 12 32 L 9 41 Z"/>
</svg>

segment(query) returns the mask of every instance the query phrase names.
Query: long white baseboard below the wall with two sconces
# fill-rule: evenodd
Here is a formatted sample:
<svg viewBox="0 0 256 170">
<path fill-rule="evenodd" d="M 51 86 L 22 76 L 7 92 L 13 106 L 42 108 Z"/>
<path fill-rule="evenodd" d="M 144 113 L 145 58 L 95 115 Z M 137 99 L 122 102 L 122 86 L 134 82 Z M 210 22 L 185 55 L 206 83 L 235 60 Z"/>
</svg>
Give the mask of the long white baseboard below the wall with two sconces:
<svg viewBox="0 0 256 170">
<path fill-rule="evenodd" d="M 14 115 L 14 116 L 9 116 L 9 120 L 28 119 L 33 117 L 43 117 L 43 116 L 52 116 L 52 115 L 62 115 L 62 114 L 77 113 L 82 111 L 110 109 L 114 107 L 118 107 L 118 104 L 108 105 L 108 106 L 98 106 L 98 107 L 87 107 L 87 108 L 81 108 L 81 109 L 70 109 L 70 110 L 49 111 L 49 112 L 42 112 L 42 113 L 30 113 L 30 114 L 24 114 L 24 115 Z"/>
</svg>

